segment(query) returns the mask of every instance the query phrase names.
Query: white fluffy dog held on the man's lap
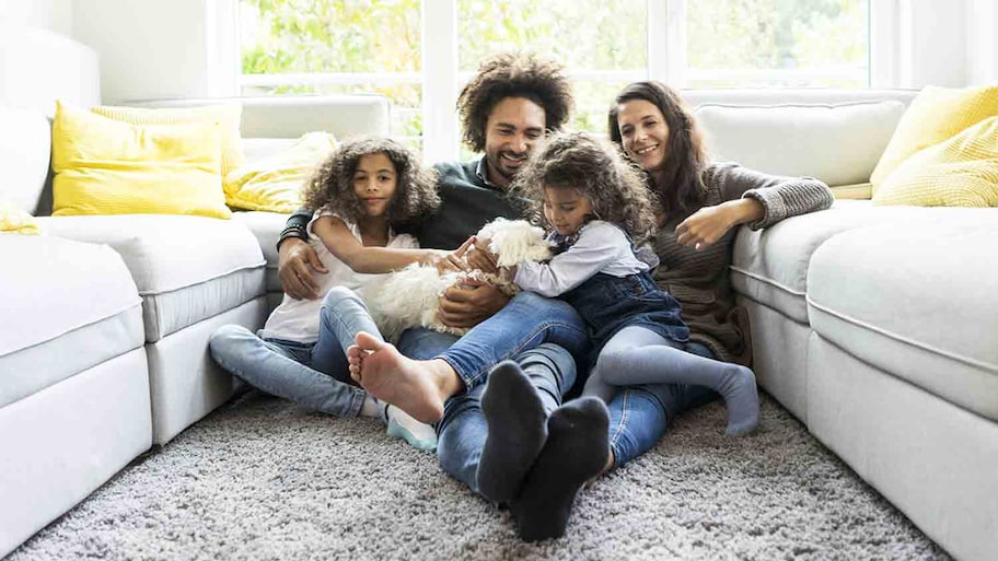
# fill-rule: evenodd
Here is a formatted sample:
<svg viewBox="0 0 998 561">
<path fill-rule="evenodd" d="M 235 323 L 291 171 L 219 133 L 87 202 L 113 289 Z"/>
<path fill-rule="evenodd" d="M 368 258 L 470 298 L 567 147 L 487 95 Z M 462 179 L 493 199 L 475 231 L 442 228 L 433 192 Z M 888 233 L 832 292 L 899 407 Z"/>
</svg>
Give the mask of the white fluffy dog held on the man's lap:
<svg viewBox="0 0 998 561">
<path fill-rule="evenodd" d="M 490 239 L 489 249 L 498 256 L 499 267 L 523 261 L 543 261 L 552 257 L 550 244 L 544 239 L 544 230 L 525 220 L 496 219 L 483 226 L 477 237 Z M 520 292 L 506 269 L 500 269 L 498 274 L 477 269 L 440 274 L 436 267 L 410 265 L 390 274 L 368 301 L 382 337 L 394 341 L 402 331 L 416 326 L 454 335 L 467 332 L 467 329 L 448 327 L 437 319 L 440 296 L 464 279 L 484 280 L 508 296 Z"/>
</svg>

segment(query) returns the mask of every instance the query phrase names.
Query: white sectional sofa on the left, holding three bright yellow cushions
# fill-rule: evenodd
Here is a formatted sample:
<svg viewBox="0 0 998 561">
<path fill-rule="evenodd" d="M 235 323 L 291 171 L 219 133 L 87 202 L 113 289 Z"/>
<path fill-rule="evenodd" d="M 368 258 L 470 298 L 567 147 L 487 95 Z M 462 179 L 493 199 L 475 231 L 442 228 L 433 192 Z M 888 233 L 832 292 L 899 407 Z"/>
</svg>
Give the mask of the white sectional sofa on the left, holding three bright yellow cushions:
<svg viewBox="0 0 998 561">
<path fill-rule="evenodd" d="M 24 51 L 33 65 L 15 56 Z M 71 68 L 49 80 L 34 65 L 51 75 Z M 2 557 L 237 390 L 208 337 L 224 324 L 263 325 L 280 296 L 275 245 L 286 217 L 46 215 L 54 102 L 97 105 L 97 60 L 25 30 L 0 38 L 0 199 L 36 214 L 46 234 L 0 235 Z M 241 102 L 251 159 L 312 130 L 388 130 L 381 96 Z M 156 105 L 178 103 L 198 104 Z"/>
</svg>

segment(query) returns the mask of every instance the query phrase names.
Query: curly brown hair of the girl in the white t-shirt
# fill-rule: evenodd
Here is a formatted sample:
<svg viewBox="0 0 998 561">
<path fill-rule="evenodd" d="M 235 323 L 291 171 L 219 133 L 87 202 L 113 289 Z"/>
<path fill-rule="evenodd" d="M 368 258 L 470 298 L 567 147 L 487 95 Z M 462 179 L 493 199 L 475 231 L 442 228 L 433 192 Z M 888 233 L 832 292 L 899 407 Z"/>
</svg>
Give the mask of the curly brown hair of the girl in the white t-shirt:
<svg viewBox="0 0 998 561">
<path fill-rule="evenodd" d="M 362 156 L 378 153 L 385 154 L 395 166 L 395 195 L 386 211 L 390 224 L 406 222 L 437 210 L 440 206 L 437 171 L 421 166 L 411 150 L 385 137 L 360 137 L 340 143 L 302 188 L 305 208 L 315 212 L 328 206 L 357 223 L 364 213 L 353 192 L 353 174 Z"/>
</svg>

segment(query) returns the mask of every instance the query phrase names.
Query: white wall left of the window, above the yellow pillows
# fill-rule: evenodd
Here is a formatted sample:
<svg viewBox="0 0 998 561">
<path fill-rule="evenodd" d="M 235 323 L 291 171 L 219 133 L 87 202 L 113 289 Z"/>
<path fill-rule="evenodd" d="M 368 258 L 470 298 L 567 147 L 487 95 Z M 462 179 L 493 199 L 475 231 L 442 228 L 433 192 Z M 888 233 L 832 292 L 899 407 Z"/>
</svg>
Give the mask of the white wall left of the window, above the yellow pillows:
<svg viewBox="0 0 998 561">
<path fill-rule="evenodd" d="M 235 44 L 220 38 L 234 27 L 219 15 L 234 1 L 76 0 L 73 37 L 101 57 L 104 103 L 234 94 Z"/>
</svg>

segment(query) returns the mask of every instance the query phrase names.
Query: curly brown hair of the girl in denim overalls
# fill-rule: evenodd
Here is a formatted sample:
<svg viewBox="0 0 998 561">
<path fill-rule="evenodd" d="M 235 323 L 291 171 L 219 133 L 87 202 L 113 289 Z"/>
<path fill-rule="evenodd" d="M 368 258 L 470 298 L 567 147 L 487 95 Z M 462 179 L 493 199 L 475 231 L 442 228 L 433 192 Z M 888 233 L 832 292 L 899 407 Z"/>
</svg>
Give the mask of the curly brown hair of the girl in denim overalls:
<svg viewBox="0 0 998 561">
<path fill-rule="evenodd" d="M 585 132 L 552 135 L 517 174 L 513 189 L 529 204 L 529 215 L 550 227 L 542 212 L 548 187 L 588 197 L 596 219 L 623 227 L 638 245 L 655 233 L 655 201 L 643 171 L 606 140 Z"/>
</svg>

